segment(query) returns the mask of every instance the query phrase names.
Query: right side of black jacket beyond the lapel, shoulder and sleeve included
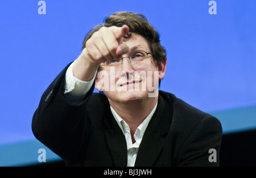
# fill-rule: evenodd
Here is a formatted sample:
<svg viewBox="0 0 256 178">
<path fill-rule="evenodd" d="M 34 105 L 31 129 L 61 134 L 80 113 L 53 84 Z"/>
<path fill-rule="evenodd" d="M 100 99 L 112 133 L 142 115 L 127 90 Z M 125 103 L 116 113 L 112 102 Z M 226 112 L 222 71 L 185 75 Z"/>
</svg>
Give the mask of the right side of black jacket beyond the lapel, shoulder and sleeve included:
<svg viewBox="0 0 256 178">
<path fill-rule="evenodd" d="M 159 92 L 173 102 L 173 115 L 168 140 L 172 145 L 174 166 L 218 166 L 209 163 L 210 148 L 220 151 L 222 127 L 212 115 L 193 107 L 174 94 Z M 195 156 L 197 155 L 197 156 Z"/>
</svg>

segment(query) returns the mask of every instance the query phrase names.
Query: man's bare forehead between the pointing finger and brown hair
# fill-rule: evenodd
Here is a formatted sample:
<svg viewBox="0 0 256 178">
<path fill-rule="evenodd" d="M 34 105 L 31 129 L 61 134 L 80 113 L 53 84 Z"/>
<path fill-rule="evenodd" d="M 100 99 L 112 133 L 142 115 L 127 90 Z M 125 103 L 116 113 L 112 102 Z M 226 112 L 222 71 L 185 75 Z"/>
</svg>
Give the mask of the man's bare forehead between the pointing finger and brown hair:
<svg viewBox="0 0 256 178">
<path fill-rule="evenodd" d="M 132 33 L 130 38 L 123 38 L 123 43 L 128 45 L 129 52 L 135 51 L 137 49 L 143 49 L 144 51 L 149 50 L 147 40 L 138 34 Z"/>
</svg>

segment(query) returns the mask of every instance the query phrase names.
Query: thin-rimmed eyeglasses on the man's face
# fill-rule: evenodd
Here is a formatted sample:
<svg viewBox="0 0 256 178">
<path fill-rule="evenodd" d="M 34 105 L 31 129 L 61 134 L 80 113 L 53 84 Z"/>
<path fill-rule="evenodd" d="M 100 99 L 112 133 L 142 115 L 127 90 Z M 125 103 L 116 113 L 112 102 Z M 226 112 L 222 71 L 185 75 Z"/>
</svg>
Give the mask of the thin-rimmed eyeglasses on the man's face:
<svg viewBox="0 0 256 178">
<path fill-rule="evenodd" d="M 126 57 L 129 59 L 129 63 L 134 68 L 139 68 L 139 67 L 143 67 L 143 65 L 146 63 L 144 59 L 146 59 L 149 54 L 152 55 L 151 52 L 137 50 L 137 51 L 131 52 L 130 55 Z M 152 56 L 154 57 L 154 55 Z M 104 63 L 104 67 L 106 68 L 106 70 L 110 70 L 111 67 L 115 67 L 115 71 L 119 71 L 122 69 L 123 59 L 126 57 L 120 57 L 119 59 L 106 61 Z"/>
</svg>

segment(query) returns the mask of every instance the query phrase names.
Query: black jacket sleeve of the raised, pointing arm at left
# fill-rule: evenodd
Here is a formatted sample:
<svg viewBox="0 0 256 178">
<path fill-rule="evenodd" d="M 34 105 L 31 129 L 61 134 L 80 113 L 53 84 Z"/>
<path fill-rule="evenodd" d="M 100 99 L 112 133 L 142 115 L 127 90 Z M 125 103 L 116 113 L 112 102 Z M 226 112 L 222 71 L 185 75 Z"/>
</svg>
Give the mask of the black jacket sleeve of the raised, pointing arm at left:
<svg viewBox="0 0 256 178">
<path fill-rule="evenodd" d="M 70 64 L 69 64 L 70 65 Z M 86 104 L 94 85 L 76 104 L 64 97 L 65 72 L 49 85 L 32 118 L 32 132 L 67 164 L 82 164 L 89 136 Z"/>
</svg>

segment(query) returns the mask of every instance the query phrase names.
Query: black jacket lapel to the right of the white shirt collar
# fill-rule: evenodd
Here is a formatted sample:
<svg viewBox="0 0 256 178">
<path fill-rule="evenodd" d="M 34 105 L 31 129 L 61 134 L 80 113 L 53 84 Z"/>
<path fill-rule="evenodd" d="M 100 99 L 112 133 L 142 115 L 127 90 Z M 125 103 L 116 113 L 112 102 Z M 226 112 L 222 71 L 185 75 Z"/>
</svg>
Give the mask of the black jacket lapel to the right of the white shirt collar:
<svg viewBox="0 0 256 178">
<path fill-rule="evenodd" d="M 154 166 L 159 158 L 172 119 L 172 105 L 159 95 L 158 106 L 144 133 L 135 166 Z"/>
</svg>

